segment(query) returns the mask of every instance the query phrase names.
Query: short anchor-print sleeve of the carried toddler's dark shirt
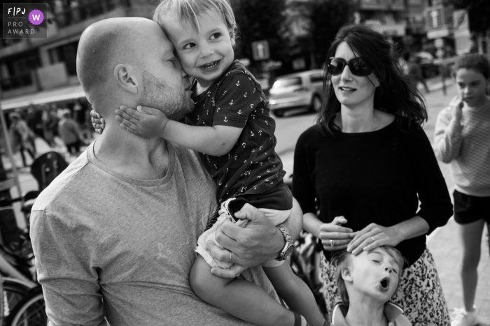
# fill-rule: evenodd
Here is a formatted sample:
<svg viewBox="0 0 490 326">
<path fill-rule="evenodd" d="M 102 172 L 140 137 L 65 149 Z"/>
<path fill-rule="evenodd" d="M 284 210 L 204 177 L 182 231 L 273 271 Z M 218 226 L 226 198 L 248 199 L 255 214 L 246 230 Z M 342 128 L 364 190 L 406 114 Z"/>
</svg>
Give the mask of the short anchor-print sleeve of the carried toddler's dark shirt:
<svg viewBox="0 0 490 326">
<path fill-rule="evenodd" d="M 244 128 L 253 110 L 265 105 L 265 98 L 252 76 L 235 73 L 225 77 L 216 96 L 213 125 Z"/>
</svg>

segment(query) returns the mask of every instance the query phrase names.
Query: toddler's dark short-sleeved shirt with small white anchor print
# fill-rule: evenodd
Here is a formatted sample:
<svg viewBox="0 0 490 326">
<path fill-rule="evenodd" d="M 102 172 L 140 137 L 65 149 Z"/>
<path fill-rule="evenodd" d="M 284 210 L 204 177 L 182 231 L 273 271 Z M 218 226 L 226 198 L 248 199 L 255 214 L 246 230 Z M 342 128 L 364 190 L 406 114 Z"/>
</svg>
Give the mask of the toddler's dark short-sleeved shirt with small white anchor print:
<svg viewBox="0 0 490 326">
<path fill-rule="evenodd" d="M 223 156 L 200 153 L 218 188 L 216 199 L 259 194 L 279 184 L 286 174 L 275 152 L 276 122 L 262 87 L 239 61 L 233 61 L 206 91 L 193 97 L 194 111 L 186 118 L 193 126 L 243 128 L 232 150 Z"/>
</svg>

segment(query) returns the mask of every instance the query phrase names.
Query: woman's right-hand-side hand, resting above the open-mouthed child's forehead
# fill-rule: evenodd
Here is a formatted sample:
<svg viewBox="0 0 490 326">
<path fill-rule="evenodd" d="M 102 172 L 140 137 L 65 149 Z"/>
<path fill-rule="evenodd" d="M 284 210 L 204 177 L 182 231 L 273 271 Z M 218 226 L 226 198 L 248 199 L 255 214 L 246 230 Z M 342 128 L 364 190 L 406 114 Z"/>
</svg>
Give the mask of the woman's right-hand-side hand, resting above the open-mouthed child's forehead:
<svg viewBox="0 0 490 326">
<path fill-rule="evenodd" d="M 396 246 L 402 241 L 395 228 L 386 228 L 376 223 L 367 225 L 363 230 L 353 233 L 352 236 L 353 239 L 347 246 L 347 251 L 354 255 L 360 251 L 370 251 L 379 246 Z"/>
</svg>

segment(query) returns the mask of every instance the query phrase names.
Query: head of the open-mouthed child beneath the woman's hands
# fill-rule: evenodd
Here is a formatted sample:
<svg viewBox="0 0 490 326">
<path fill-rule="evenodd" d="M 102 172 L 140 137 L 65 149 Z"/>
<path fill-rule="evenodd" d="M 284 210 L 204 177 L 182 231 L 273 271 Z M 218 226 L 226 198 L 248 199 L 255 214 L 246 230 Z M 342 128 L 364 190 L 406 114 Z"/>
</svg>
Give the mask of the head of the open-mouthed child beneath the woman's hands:
<svg viewBox="0 0 490 326">
<path fill-rule="evenodd" d="M 335 279 L 342 302 L 348 306 L 353 295 L 371 297 L 380 304 L 388 302 L 398 288 L 404 262 L 400 251 L 392 246 L 361 251 L 358 255 L 340 251 L 332 264 L 337 267 Z"/>
</svg>

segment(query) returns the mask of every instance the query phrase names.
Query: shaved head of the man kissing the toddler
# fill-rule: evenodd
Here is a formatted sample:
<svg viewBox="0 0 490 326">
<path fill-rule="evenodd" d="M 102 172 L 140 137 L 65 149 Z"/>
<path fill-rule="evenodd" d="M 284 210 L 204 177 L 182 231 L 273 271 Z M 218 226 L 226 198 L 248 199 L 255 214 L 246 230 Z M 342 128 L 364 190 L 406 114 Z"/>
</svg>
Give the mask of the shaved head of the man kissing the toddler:
<svg viewBox="0 0 490 326">
<path fill-rule="evenodd" d="M 162 29 L 139 17 L 111 18 L 80 36 L 76 70 L 88 101 L 110 126 L 120 105 L 162 110 L 183 119 L 193 108 L 174 47 Z"/>
</svg>

